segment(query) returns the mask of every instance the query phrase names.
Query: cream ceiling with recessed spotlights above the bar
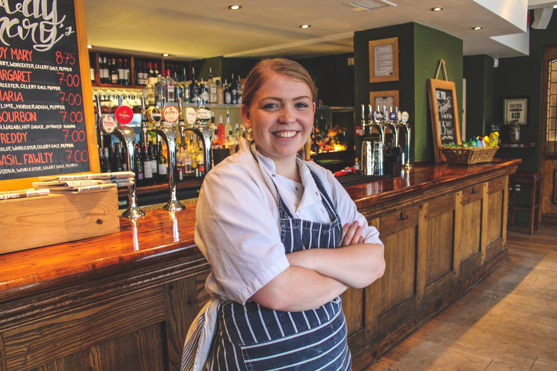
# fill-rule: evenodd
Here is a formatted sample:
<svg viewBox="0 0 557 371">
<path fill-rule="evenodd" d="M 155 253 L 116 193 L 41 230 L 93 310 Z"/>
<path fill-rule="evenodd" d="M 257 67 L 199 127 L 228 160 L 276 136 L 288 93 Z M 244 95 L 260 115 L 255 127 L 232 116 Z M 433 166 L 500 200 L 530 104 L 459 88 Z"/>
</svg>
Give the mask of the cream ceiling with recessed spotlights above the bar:
<svg viewBox="0 0 557 371">
<path fill-rule="evenodd" d="M 522 55 L 490 37 L 524 29 L 476 1 L 389 1 L 396 6 L 365 11 L 344 4 L 348 0 L 84 0 L 88 42 L 99 50 L 301 58 L 353 51 L 354 31 L 418 22 L 461 38 L 464 55 Z M 242 9 L 228 9 L 235 2 Z M 431 11 L 437 6 L 443 11 Z M 299 27 L 306 23 L 311 27 Z"/>
</svg>

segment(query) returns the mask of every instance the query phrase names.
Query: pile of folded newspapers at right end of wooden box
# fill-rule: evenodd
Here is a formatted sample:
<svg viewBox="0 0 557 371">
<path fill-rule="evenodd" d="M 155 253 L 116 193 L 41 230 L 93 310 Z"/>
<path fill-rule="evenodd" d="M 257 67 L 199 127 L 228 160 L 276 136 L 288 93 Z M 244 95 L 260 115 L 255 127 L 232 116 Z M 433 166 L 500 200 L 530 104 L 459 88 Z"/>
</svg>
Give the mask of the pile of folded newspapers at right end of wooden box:
<svg viewBox="0 0 557 371">
<path fill-rule="evenodd" d="M 131 171 L 102 172 L 97 174 L 40 176 L 32 185 L 38 190 L 49 189 L 51 193 L 83 193 L 127 187 L 134 184 Z"/>
</svg>

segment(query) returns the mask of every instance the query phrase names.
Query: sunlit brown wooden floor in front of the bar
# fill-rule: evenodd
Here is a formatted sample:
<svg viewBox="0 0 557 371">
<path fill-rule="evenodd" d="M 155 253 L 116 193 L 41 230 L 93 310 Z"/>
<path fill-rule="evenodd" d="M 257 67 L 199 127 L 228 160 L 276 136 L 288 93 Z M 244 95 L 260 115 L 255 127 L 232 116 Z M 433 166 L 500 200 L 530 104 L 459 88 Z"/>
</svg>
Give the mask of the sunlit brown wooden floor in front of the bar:
<svg viewBox="0 0 557 371">
<path fill-rule="evenodd" d="M 366 371 L 557 370 L 557 226 L 509 230 L 509 259 Z"/>
</svg>

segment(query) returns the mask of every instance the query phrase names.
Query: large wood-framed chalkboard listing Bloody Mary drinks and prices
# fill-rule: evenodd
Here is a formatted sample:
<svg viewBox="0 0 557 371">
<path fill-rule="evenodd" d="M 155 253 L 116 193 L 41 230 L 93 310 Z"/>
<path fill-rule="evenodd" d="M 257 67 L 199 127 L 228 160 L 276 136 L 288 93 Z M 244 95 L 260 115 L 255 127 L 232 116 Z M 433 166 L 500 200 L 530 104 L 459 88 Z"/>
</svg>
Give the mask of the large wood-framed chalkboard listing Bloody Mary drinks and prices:
<svg viewBox="0 0 557 371">
<path fill-rule="evenodd" d="M 7 0 L 0 17 L 0 191 L 99 172 L 83 1 Z"/>
</svg>

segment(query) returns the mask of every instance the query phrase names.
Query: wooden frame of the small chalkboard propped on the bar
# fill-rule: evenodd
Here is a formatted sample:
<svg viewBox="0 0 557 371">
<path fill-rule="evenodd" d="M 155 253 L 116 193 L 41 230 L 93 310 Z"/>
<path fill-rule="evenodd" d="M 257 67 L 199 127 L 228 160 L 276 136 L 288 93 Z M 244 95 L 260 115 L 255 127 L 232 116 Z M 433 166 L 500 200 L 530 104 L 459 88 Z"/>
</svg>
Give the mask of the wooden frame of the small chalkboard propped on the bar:
<svg viewBox="0 0 557 371">
<path fill-rule="evenodd" d="M 433 147 L 435 154 L 435 162 L 447 162 L 446 157 L 443 155 L 441 148 L 443 147 L 441 142 L 441 131 L 439 127 L 439 110 L 437 108 L 437 97 L 436 89 L 446 89 L 452 92 L 452 103 L 453 103 L 453 118 L 455 122 L 455 132 L 456 140 L 458 144 L 461 144 L 460 136 L 460 121 L 458 120 L 458 104 L 456 97 L 456 86 L 452 81 L 437 80 L 435 78 L 427 79 L 427 90 L 429 97 L 429 111 L 431 112 L 431 127 L 433 130 Z"/>
</svg>

